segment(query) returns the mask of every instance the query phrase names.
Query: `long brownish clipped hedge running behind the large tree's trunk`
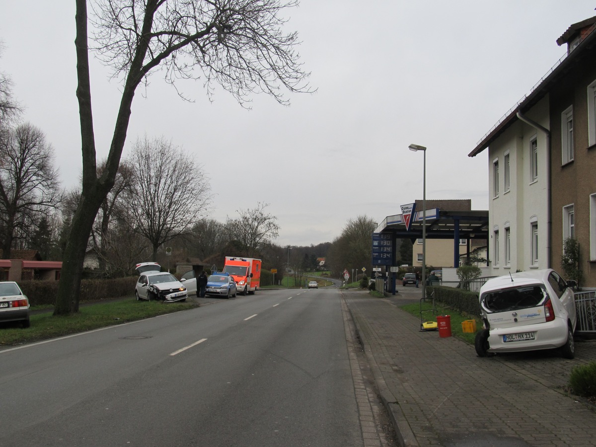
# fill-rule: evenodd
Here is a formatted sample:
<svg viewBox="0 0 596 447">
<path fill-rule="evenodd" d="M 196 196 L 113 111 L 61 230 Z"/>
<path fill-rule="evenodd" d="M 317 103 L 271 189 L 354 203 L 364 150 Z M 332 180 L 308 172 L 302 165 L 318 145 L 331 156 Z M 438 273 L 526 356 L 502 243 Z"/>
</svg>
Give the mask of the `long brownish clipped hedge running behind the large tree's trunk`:
<svg viewBox="0 0 596 447">
<path fill-rule="evenodd" d="M 32 306 L 53 306 L 58 294 L 58 281 L 19 281 L 23 293 Z M 100 301 L 135 293 L 136 277 L 116 278 L 114 280 L 81 280 L 80 302 Z"/>
</svg>

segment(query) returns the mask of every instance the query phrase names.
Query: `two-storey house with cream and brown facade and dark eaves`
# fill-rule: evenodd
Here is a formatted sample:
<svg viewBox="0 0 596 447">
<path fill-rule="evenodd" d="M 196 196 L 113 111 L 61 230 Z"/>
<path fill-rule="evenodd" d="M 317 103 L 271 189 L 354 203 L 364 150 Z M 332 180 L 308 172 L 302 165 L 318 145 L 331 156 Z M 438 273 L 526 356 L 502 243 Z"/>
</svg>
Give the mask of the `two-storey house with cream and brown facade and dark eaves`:
<svg viewBox="0 0 596 447">
<path fill-rule="evenodd" d="M 561 270 L 563 241 L 581 247 L 596 287 L 596 17 L 557 39 L 566 54 L 469 154 L 488 148 L 492 275 Z"/>
</svg>

